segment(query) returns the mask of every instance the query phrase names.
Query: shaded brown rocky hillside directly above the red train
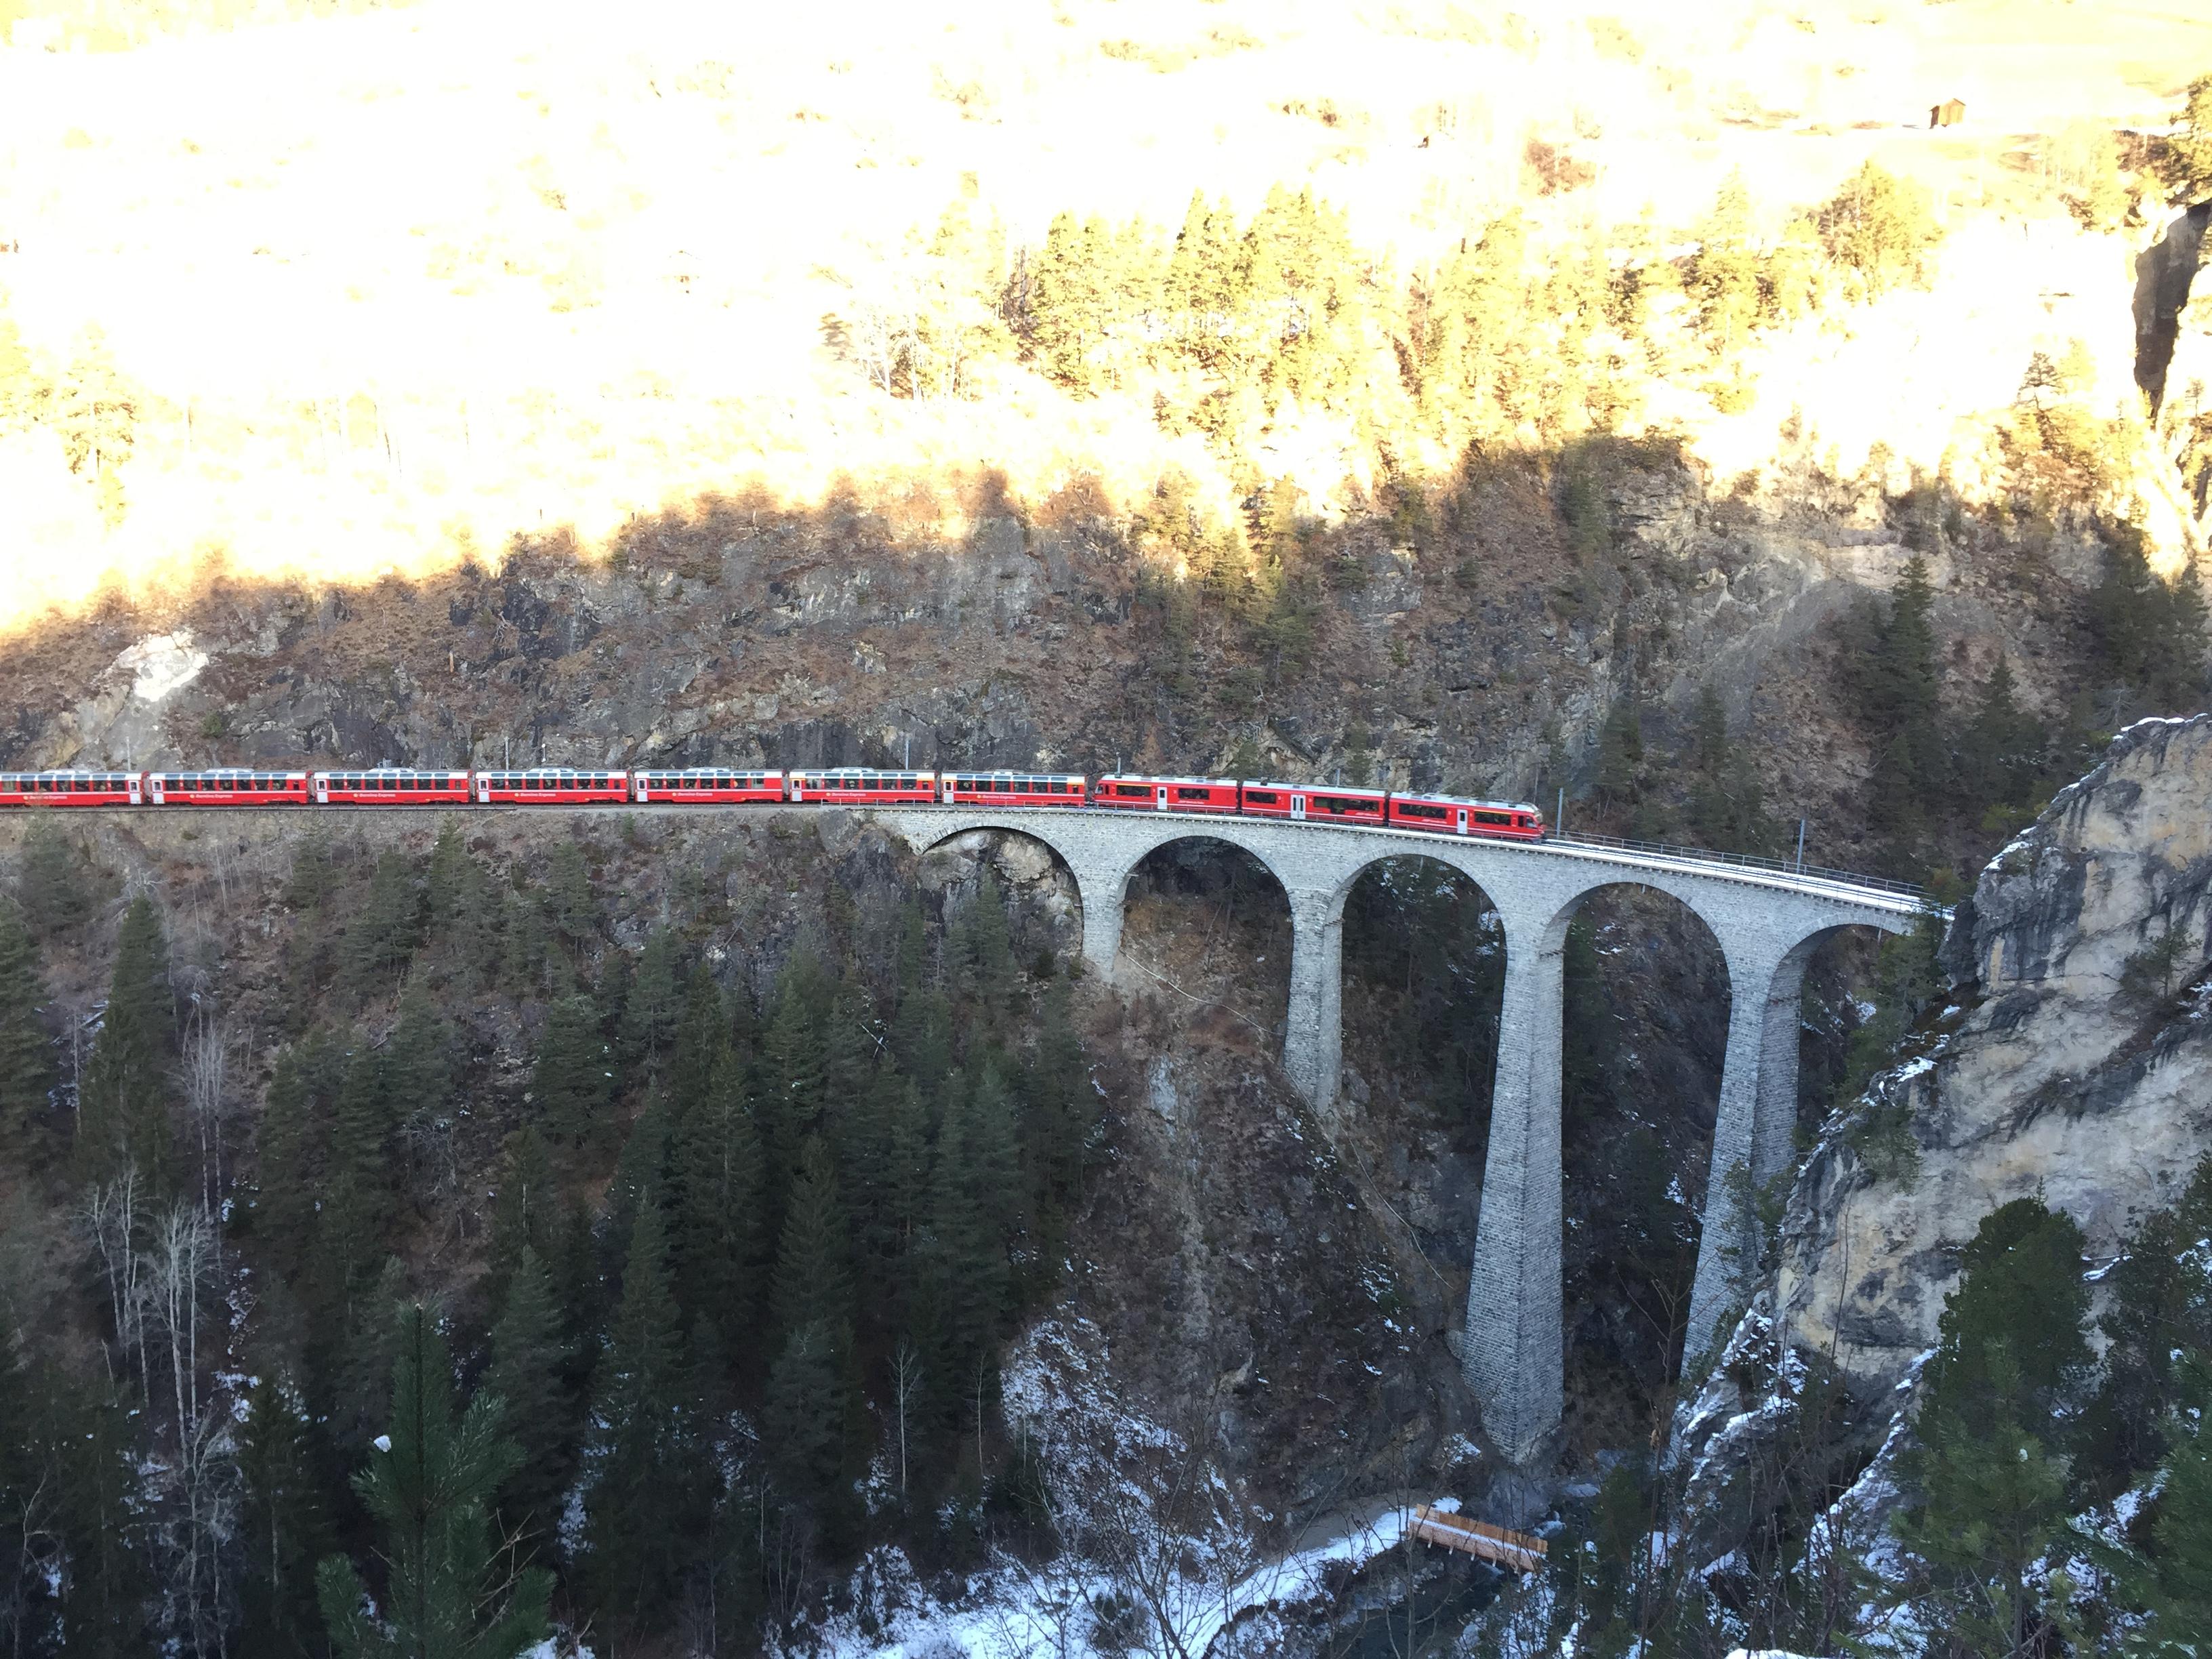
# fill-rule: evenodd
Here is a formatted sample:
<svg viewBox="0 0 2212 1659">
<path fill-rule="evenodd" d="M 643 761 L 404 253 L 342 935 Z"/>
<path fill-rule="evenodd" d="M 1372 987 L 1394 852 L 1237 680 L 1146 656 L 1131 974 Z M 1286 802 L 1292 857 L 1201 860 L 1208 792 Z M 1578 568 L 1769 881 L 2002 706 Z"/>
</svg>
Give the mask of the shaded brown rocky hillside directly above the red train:
<svg viewBox="0 0 2212 1659">
<path fill-rule="evenodd" d="M 0 763 L 1199 770 L 1252 745 L 1329 776 L 1365 748 L 1398 785 L 1526 796 L 1571 781 L 1553 743 L 1588 770 L 1621 695 L 1657 737 L 1714 684 L 1770 799 L 1809 812 L 1814 856 L 1849 863 L 1869 761 L 1818 639 L 1896 580 L 1900 533 L 1865 500 L 1765 511 L 1637 453 L 1606 462 L 1606 551 L 1577 555 L 1551 467 L 1489 467 L 1420 533 L 1316 526 L 1303 653 L 1203 602 L 1183 633 L 1159 597 L 1170 564 L 1084 500 L 1037 518 L 978 500 L 953 542 L 858 504 L 708 500 L 633 526 L 613 564 L 555 538 L 420 584 L 215 580 L 13 641 Z M 1942 622 L 1971 639 L 1955 672 L 2002 648 L 2031 695 L 2068 684 L 2066 608 L 2097 562 L 2064 538 L 2048 560 L 2026 584 L 2008 557 L 1938 551 Z"/>
</svg>

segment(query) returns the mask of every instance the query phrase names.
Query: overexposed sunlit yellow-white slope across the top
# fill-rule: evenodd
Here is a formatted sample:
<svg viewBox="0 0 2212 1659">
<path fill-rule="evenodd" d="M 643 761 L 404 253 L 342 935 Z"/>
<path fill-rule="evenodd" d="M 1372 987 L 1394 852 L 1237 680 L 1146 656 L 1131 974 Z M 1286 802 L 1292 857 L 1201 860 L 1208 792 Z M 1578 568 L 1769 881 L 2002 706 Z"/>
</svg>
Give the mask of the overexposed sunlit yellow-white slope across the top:
<svg viewBox="0 0 2212 1659">
<path fill-rule="evenodd" d="M 0 299 L 53 365 L 100 330 L 137 398 L 106 493 L 51 434 L 0 431 L 0 615 L 210 553 L 358 580 L 542 526 L 599 544 L 748 480 L 812 504 L 995 469 L 1035 504 L 1093 473 L 1128 502 L 1181 467 L 1225 502 L 1241 482 L 1141 392 L 1075 400 L 998 361 L 971 398 L 887 398 L 823 319 L 900 281 L 911 230 L 969 192 L 1013 248 L 1060 208 L 1172 226 L 1194 186 L 1250 210 L 1310 181 L 1411 265 L 1520 199 L 1562 234 L 1690 223 L 1730 168 L 1778 223 L 1880 155 L 1966 219 L 2020 206 L 2017 133 L 2157 119 L 2157 66 L 2212 62 L 2201 20 L 2084 33 L 2055 0 L 310 11 L 243 27 L 179 0 L 117 33 L 91 0 L 0 7 Z M 1907 131 L 1949 93 L 1966 137 Z M 1533 146 L 1564 159 L 1533 168 Z M 2042 323 L 1993 296 L 2055 285 L 2031 301 L 1995 248 L 1902 332 L 1876 327 L 1871 358 L 1812 330 L 1776 345 L 1750 411 L 1661 385 L 1650 418 L 1710 429 L 1723 476 L 1792 405 L 1847 465 L 1867 434 L 1936 465 L 2044 336 L 2095 336 L 2124 385 L 2119 248 L 2033 252 L 2086 272 Z M 1343 422 L 1267 440 L 1316 502 L 1371 462 Z"/>
</svg>

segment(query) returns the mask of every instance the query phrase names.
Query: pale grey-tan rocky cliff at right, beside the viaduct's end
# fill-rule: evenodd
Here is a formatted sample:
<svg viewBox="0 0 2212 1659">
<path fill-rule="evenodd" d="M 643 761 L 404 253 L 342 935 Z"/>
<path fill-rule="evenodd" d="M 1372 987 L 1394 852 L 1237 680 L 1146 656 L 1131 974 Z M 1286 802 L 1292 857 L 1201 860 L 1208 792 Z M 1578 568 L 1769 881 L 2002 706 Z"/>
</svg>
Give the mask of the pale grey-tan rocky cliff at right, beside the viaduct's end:
<svg viewBox="0 0 2212 1659">
<path fill-rule="evenodd" d="M 1995 1206 L 2042 1192 L 2106 1261 L 2177 1197 L 2212 1150 L 2208 914 L 2212 717 L 2143 721 L 1982 872 L 1940 1033 L 1798 1179 L 1776 1281 L 1796 1347 L 1874 1396 L 1936 1343 Z"/>
</svg>

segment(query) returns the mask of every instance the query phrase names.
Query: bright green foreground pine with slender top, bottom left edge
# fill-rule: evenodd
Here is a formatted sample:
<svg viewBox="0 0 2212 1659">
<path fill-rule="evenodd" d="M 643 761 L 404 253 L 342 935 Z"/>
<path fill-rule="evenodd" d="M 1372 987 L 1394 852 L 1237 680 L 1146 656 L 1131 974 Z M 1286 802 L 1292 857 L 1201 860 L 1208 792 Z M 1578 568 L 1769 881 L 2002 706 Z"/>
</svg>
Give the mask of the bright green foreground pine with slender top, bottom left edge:
<svg viewBox="0 0 2212 1659">
<path fill-rule="evenodd" d="M 316 1599 L 341 1659 L 515 1659 L 549 1630 L 553 1575 L 511 1571 L 491 1535 L 491 1495 L 520 1453 L 502 1405 L 480 1394 L 456 1416 L 445 1340 L 420 1305 L 400 1314 L 392 1427 L 354 1478 L 389 1568 L 383 1617 L 343 1555 L 323 1557 Z"/>
</svg>

